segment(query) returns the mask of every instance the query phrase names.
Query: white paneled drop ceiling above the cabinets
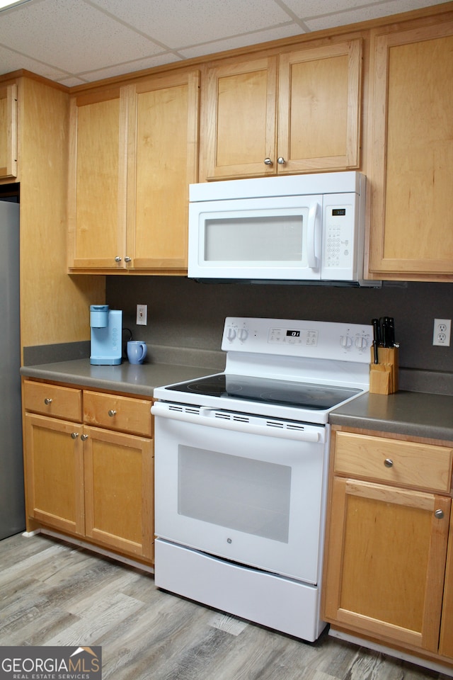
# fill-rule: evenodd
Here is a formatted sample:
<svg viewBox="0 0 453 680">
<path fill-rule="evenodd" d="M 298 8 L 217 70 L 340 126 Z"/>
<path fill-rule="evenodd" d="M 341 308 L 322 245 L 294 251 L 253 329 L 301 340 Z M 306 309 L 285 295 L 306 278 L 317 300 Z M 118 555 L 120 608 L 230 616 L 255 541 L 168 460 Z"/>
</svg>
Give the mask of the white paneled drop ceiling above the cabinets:
<svg viewBox="0 0 453 680">
<path fill-rule="evenodd" d="M 26 0 L 0 11 L 0 74 L 69 87 L 440 0 Z"/>
</svg>

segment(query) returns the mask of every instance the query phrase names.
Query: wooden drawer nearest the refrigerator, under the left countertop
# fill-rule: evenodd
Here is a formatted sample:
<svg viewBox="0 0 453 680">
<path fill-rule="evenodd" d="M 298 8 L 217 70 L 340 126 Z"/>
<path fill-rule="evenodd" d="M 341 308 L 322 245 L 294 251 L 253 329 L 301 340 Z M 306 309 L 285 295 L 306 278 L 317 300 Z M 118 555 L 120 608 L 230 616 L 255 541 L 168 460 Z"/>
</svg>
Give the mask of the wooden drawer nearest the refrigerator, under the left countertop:
<svg viewBox="0 0 453 680">
<path fill-rule="evenodd" d="M 82 391 L 74 387 L 24 380 L 23 400 L 26 411 L 79 423 L 82 421 Z"/>
</svg>

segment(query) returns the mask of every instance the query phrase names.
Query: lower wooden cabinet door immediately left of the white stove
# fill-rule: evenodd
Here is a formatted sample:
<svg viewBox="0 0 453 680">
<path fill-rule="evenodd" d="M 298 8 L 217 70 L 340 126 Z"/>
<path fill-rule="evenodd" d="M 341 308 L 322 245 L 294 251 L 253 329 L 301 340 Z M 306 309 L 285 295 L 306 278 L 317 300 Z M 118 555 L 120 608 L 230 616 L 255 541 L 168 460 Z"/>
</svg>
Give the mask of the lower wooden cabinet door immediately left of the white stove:
<svg viewBox="0 0 453 680">
<path fill-rule="evenodd" d="M 89 426 L 84 436 L 86 536 L 152 560 L 152 440 Z"/>
</svg>

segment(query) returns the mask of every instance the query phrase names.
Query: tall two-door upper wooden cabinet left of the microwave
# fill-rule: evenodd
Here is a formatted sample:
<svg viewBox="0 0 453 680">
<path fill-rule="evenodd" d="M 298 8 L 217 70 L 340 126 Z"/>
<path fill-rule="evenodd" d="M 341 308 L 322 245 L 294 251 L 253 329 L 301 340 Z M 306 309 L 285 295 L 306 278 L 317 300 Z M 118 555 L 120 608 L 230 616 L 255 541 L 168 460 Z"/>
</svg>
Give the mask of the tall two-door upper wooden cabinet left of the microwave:
<svg viewBox="0 0 453 680">
<path fill-rule="evenodd" d="M 198 80 L 175 73 L 71 101 L 69 271 L 184 272 Z"/>
</svg>

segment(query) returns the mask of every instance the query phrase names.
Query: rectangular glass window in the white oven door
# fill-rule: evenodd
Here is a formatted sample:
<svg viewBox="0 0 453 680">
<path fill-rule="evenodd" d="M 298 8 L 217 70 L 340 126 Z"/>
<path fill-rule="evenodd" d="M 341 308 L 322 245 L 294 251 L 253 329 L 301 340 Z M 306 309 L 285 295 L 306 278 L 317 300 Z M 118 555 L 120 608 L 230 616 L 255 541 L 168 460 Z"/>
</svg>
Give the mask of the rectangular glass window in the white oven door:
<svg viewBox="0 0 453 680">
<path fill-rule="evenodd" d="M 178 447 L 178 514 L 288 542 L 291 467 Z"/>
</svg>

